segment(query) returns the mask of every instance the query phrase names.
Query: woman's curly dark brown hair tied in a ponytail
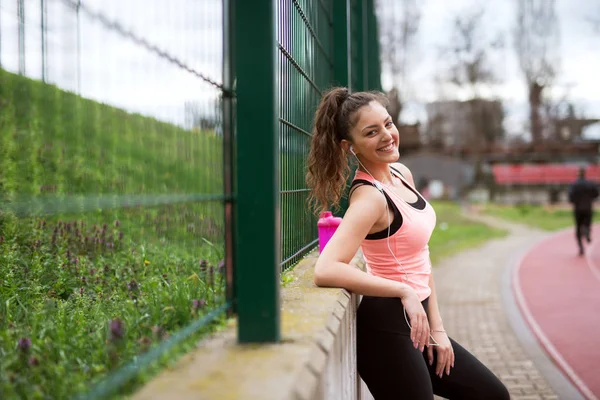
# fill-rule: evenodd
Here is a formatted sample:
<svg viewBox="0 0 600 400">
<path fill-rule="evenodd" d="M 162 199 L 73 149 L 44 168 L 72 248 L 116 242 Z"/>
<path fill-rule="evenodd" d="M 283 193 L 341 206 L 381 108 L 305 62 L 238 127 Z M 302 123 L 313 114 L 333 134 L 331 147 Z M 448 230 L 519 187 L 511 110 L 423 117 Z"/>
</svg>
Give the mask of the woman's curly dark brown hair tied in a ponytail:
<svg viewBox="0 0 600 400">
<path fill-rule="evenodd" d="M 327 210 L 330 205 L 339 207 L 350 175 L 341 142 L 343 139 L 351 141 L 350 130 L 357 122 L 358 111 L 372 101 L 384 107 L 388 104 L 380 92 L 350 93 L 347 88 L 335 87 L 323 95 L 315 115 L 306 175 L 311 189 L 309 201 L 316 213 Z"/>
</svg>

